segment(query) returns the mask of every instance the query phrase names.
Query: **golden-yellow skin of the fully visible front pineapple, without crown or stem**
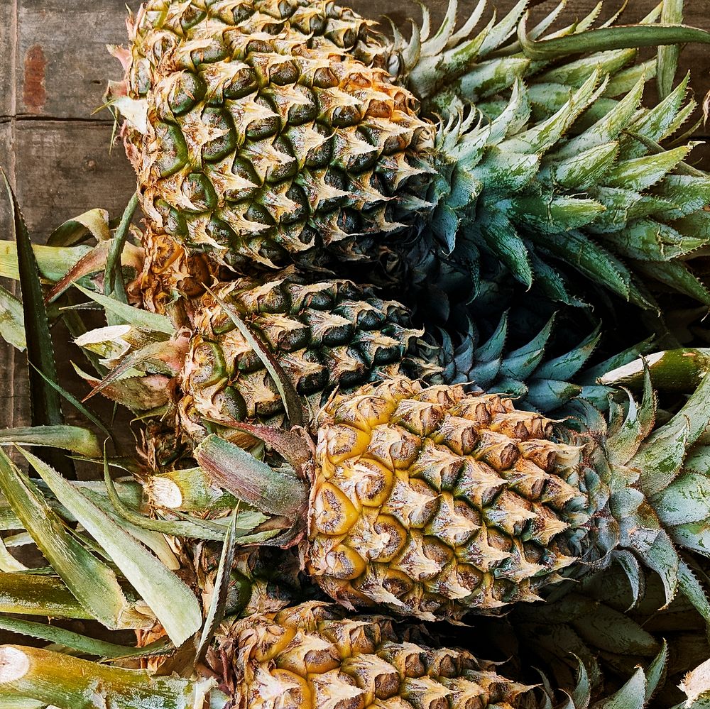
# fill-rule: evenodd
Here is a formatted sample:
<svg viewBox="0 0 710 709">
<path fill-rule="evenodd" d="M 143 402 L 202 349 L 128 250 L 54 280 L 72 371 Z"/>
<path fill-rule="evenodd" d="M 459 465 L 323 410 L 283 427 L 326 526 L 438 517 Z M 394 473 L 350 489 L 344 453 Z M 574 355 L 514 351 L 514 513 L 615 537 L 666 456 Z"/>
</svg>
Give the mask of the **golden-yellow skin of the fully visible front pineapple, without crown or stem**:
<svg viewBox="0 0 710 709">
<path fill-rule="evenodd" d="M 537 600 L 575 561 L 581 449 L 508 399 L 370 385 L 324 407 L 315 456 L 304 563 L 350 608 L 456 619 Z"/>
</svg>

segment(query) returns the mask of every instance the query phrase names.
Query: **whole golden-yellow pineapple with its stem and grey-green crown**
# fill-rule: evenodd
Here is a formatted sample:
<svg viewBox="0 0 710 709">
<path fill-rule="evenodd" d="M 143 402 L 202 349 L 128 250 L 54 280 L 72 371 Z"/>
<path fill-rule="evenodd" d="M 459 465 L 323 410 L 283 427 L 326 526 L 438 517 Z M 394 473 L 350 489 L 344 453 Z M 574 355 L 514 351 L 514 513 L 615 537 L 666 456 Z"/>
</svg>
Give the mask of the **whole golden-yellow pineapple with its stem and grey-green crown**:
<svg viewBox="0 0 710 709">
<path fill-rule="evenodd" d="M 292 459 L 295 473 L 211 435 L 192 476 L 273 515 L 281 543 L 298 542 L 308 575 L 349 608 L 457 620 L 538 600 L 563 574 L 622 557 L 635 559 L 625 563 L 635 586 L 640 561 L 662 575 L 667 600 L 679 589 L 704 598 L 674 544 L 701 551 L 708 510 L 676 508 L 705 476 L 694 478 L 690 462 L 687 472 L 661 471 L 671 456 L 681 466 L 704 429 L 709 385 L 649 436 L 648 383 L 643 405 L 626 414 L 614 405 L 608 425 L 582 406 L 580 433 L 498 395 L 394 378 L 335 396 L 312 443 L 235 424 Z M 161 500 L 161 490 L 155 507 L 195 504 Z"/>
</svg>

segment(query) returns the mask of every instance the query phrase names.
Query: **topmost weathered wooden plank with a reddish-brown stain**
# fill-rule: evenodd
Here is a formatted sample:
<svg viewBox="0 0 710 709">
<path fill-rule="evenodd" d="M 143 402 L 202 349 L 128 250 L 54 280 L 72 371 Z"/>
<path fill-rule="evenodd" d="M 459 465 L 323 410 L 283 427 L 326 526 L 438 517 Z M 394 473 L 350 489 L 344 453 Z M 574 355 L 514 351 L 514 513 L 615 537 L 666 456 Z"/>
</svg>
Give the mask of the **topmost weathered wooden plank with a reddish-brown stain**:
<svg viewBox="0 0 710 709">
<path fill-rule="evenodd" d="M 8 15 L 12 5 L 3 4 L 5 9 L 0 10 L 0 20 L 6 19 L 2 13 Z M 392 16 L 405 31 L 409 18 L 416 20 L 420 16 L 415 4 L 403 4 L 398 0 L 353 0 L 351 4 L 366 16 Z M 462 2 L 459 16 L 466 16 L 474 4 L 474 0 Z M 498 7 L 500 17 L 514 4 L 514 0 L 498 0 L 490 5 Z M 655 4 L 655 0 L 630 0 L 623 18 L 638 21 Z M 430 0 L 429 5 L 432 21 L 440 21 L 446 0 Z M 705 3 L 687 2 L 686 5 L 687 23 L 710 28 Z M 129 6 L 135 11 L 139 3 L 132 0 Z M 554 2 L 545 2 L 535 9 L 533 18 L 542 16 L 554 6 Z M 557 24 L 567 24 L 585 16 L 594 6 L 596 0 L 570 1 Z M 607 2 L 600 17 L 607 18 L 617 7 L 617 3 Z M 488 18 L 490 13 L 488 10 L 485 17 Z M 120 0 L 94 0 L 92 3 L 43 0 L 39 7 L 36 0 L 18 0 L 18 113 L 88 119 L 102 105 L 107 79 L 121 76 L 119 62 L 109 56 L 105 45 L 126 42 L 125 20 L 126 7 Z M 0 23 L 0 28 L 2 26 Z M 383 28 L 387 29 L 387 25 Z M 0 46 L 5 44 L 0 34 Z M 681 66 L 682 70 L 693 67 L 697 94 L 702 96 L 710 90 L 710 48 L 701 45 L 687 48 Z"/>
</svg>

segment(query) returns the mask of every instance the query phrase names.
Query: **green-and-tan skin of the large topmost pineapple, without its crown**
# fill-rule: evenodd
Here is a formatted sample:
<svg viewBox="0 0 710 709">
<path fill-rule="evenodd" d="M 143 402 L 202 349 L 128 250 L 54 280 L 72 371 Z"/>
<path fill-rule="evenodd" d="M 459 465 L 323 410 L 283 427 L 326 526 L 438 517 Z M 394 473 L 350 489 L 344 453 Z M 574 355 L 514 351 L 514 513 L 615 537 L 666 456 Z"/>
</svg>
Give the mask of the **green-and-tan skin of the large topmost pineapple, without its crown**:
<svg viewBox="0 0 710 709">
<path fill-rule="evenodd" d="M 356 58 L 369 24 L 331 3 L 149 1 L 124 55 L 140 114 L 124 138 L 156 233 L 272 267 L 402 228 L 432 125 Z"/>
</svg>

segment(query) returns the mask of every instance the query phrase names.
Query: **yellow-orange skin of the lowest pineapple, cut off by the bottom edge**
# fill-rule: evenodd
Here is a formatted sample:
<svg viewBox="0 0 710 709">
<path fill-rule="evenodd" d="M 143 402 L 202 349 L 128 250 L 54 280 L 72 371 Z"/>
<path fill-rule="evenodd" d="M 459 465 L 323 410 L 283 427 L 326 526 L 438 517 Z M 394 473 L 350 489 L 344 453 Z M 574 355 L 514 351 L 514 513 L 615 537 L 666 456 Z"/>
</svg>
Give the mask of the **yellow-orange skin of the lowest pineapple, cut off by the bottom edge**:
<svg viewBox="0 0 710 709">
<path fill-rule="evenodd" d="M 226 630 L 214 669 L 240 709 L 510 709 L 530 687 L 469 652 L 407 642 L 387 617 L 303 603 Z"/>
</svg>

